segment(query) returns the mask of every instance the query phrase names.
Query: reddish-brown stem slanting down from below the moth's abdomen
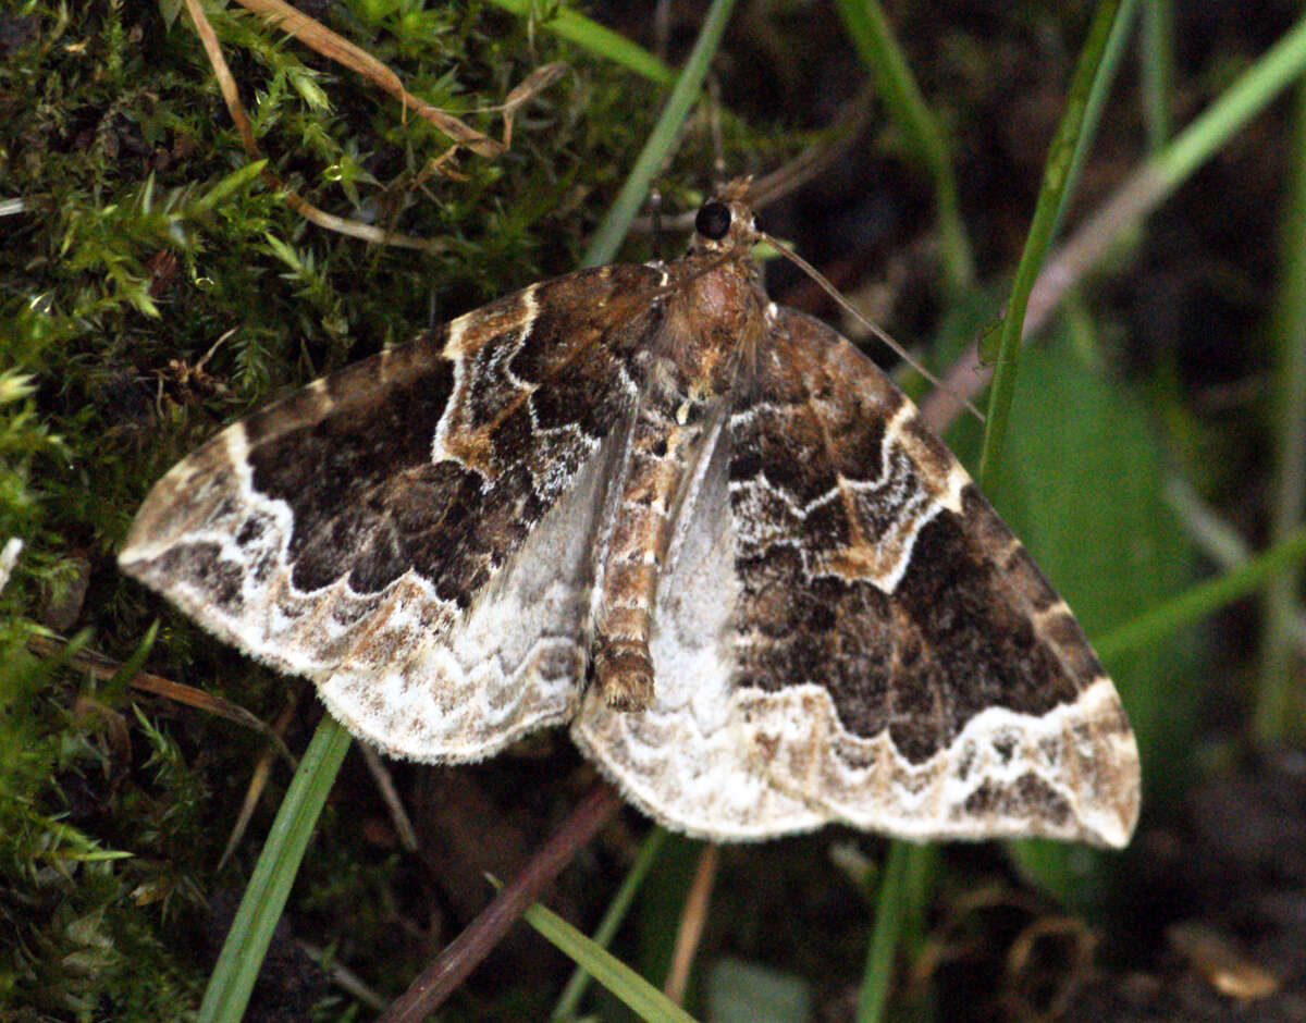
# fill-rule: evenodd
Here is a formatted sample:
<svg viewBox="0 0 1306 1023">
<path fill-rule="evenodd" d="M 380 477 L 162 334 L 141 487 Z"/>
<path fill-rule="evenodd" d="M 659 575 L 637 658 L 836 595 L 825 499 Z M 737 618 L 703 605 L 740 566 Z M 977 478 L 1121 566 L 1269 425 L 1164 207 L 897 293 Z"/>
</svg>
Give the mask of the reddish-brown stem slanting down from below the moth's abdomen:
<svg viewBox="0 0 1306 1023">
<path fill-rule="evenodd" d="M 377 1023 L 421 1023 L 468 979 L 504 934 L 526 912 L 622 805 L 620 796 L 601 783 L 576 806 L 563 826 L 539 847 L 532 861 L 503 888 L 481 916 L 435 958 Z"/>
</svg>

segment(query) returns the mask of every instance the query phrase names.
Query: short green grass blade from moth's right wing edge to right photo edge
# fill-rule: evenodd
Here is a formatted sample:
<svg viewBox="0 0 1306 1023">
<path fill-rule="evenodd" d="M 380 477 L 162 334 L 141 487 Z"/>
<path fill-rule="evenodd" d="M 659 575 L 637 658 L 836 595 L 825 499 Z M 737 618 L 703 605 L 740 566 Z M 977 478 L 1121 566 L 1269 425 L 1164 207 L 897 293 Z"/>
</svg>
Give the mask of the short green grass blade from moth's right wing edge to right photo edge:
<svg viewBox="0 0 1306 1023">
<path fill-rule="evenodd" d="M 1145 647 L 1185 626 L 1200 622 L 1238 597 L 1255 592 L 1302 560 L 1306 560 L 1306 527 L 1298 528 L 1246 564 L 1202 583 L 1160 608 L 1153 608 L 1111 630 L 1094 640 L 1093 645 L 1104 658 Z"/>
</svg>

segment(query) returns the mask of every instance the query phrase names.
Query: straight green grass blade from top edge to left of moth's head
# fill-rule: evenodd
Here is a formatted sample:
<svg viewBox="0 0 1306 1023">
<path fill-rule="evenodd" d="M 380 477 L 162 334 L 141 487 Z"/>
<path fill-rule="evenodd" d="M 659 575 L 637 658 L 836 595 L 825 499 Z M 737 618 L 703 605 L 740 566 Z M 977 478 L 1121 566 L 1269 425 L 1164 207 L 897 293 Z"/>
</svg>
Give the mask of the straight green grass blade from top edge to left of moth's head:
<svg viewBox="0 0 1306 1023">
<path fill-rule="evenodd" d="M 716 56 L 721 34 L 726 29 L 726 21 L 729 21 L 733 9 L 734 0 L 712 0 L 712 7 L 708 8 L 703 27 L 699 30 L 699 38 L 695 41 L 690 59 L 684 63 L 684 69 L 666 101 L 662 116 L 658 118 L 626 179 L 626 184 L 622 186 L 616 201 L 607 210 L 607 216 L 585 251 L 582 260 L 585 267 L 611 263 L 616 255 L 631 221 L 635 219 L 644 196 L 648 195 L 653 175 L 658 172 L 675 148 L 684 119 L 699 98 L 703 80 L 707 77 L 712 57 Z"/>
</svg>

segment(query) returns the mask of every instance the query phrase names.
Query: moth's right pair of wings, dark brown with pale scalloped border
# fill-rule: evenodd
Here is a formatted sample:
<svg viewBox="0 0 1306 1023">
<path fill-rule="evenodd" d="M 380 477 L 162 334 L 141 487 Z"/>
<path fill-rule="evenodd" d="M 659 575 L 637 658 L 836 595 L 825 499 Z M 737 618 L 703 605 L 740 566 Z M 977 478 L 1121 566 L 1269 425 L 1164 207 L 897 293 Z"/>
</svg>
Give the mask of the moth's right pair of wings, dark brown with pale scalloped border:
<svg viewBox="0 0 1306 1023">
<path fill-rule="evenodd" d="M 1083 632 L 833 331 L 768 311 L 682 530 L 657 703 L 619 717 L 586 699 L 573 725 L 654 817 L 725 839 L 845 820 L 1127 840 L 1138 753 Z"/>
</svg>

